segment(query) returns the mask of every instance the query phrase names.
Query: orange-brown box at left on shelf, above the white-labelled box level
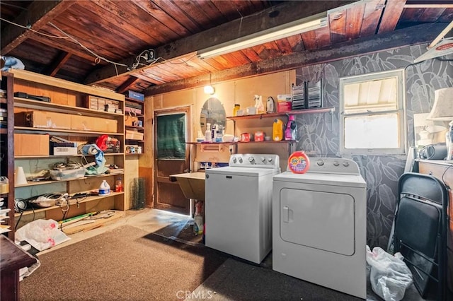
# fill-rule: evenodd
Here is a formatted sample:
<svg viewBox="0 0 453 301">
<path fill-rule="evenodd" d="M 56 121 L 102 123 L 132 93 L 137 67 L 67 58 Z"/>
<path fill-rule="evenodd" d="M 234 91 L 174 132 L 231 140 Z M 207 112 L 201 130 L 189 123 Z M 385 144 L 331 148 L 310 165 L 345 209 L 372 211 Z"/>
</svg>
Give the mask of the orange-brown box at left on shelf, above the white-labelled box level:
<svg viewBox="0 0 453 301">
<path fill-rule="evenodd" d="M 49 155 L 49 135 L 14 134 L 14 155 Z"/>
</svg>

